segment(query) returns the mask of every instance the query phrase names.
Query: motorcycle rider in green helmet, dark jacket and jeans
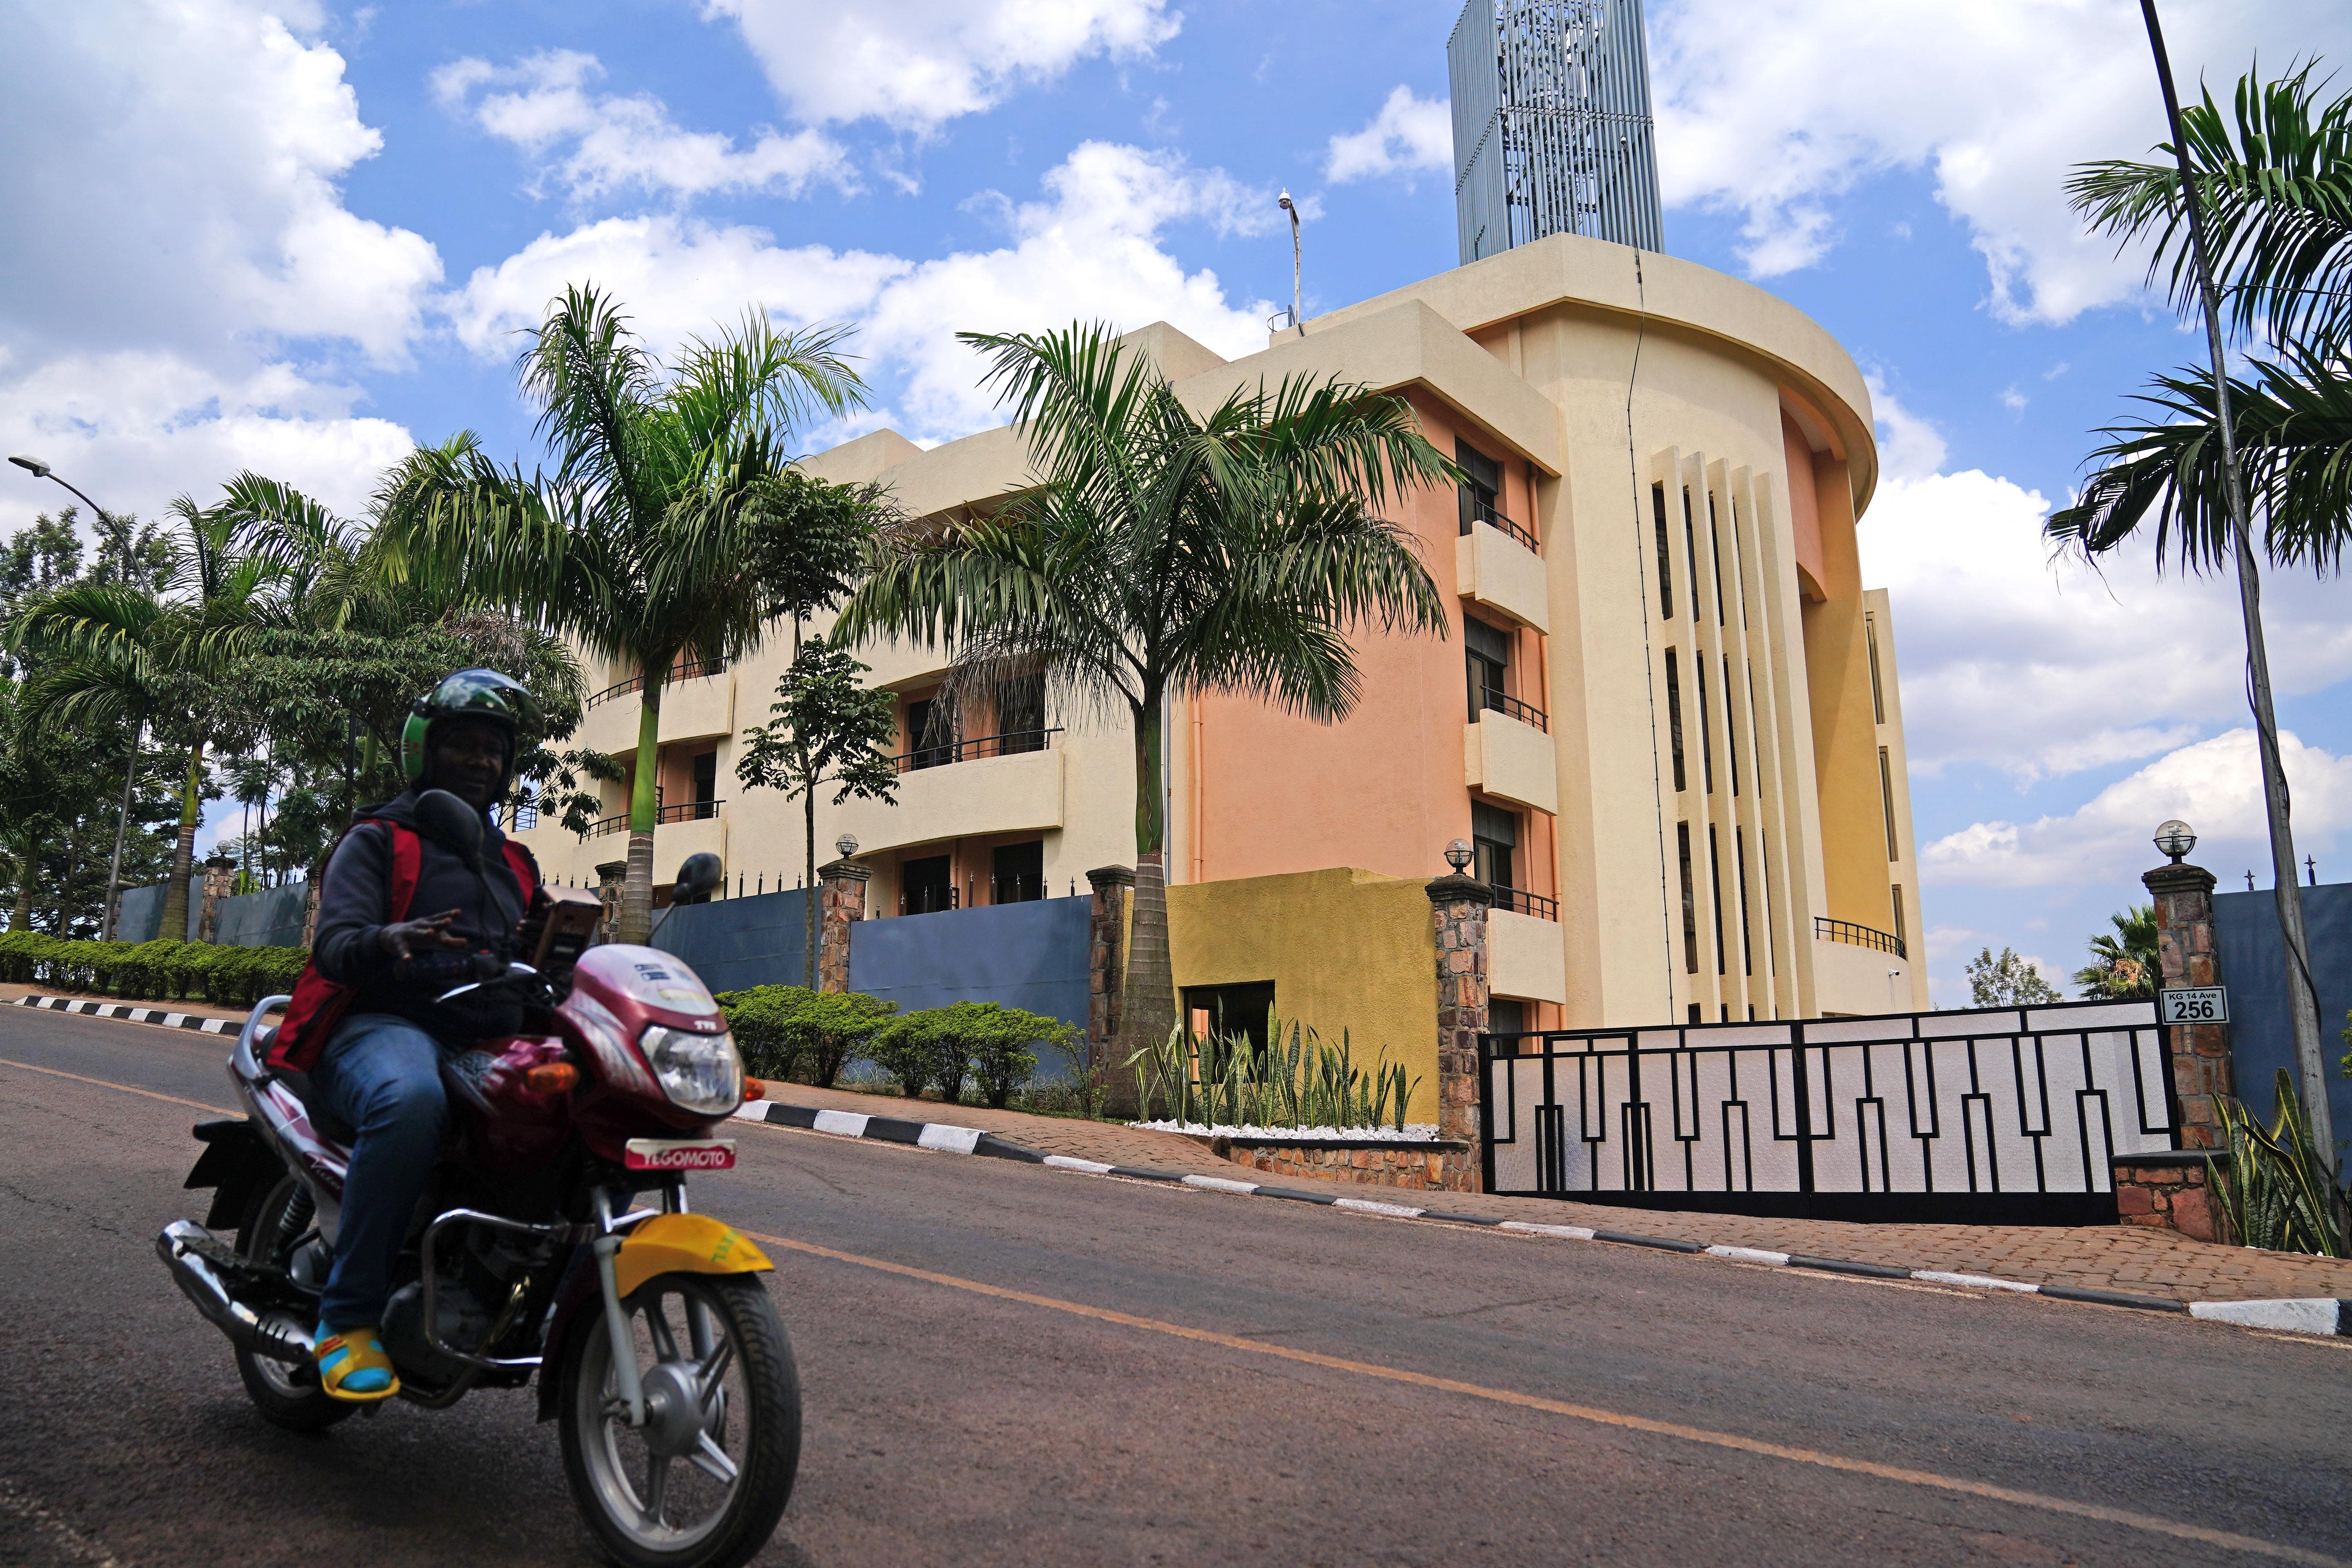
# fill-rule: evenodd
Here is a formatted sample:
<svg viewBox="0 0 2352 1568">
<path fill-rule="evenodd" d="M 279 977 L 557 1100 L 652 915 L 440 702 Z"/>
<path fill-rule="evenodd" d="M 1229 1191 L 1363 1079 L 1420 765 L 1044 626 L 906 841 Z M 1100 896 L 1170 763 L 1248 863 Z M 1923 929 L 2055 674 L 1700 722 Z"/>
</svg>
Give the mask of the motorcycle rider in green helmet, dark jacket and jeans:
<svg viewBox="0 0 2352 1568">
<path fill-rule="evenodd" d="M 400 738 L 409 788 L 362 811 L 327 863 L 315 973 L 296 987 L 285 1030 L 308 1039 L 270 1053 L 273 1065 L 308 1067 L 313 1103 L 355 1131 L 315 1349 L 334 1399 L 400 1392 L 379 1331 L 409 1215 L 449 1128 L 442 1053 L 522 1027 L 520 1004 L 435 997 L 477 978 L 475 954 L 508 957 L 539 889 L 529 851 L 489 823 L 515 780 L 517 729 L 534 722 L 532 693 L 496 670 L 459 670 L 416 698 Z M 485 813 L 477 860 L 419 823 L 426 790 Z"/>
</svg>

